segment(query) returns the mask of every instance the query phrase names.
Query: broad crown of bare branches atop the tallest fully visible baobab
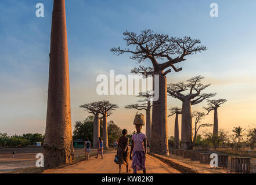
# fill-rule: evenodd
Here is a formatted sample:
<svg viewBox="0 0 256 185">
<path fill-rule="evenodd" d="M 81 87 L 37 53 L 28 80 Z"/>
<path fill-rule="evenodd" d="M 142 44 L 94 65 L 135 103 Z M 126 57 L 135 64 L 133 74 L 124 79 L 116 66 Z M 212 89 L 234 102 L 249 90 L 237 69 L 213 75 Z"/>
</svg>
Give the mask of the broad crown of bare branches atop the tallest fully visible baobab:
<svg viewBox="0 0 256 185">
<path fill-rule="evenodd" d="M 139 63 L 149 58 L 155 72 L 163 71 L 168 67 L 172 67 L 175 72 L 181 71 L 182 68 L 176 68 L 174 64 L 186 60 L 185 56 L 207 50 L 206 47 L 200 46 L 199 39 L 188 36 L 170 38 L 168 35 L 153 33 L 150 29 L 145 29 L 140 34 L 125 31 L 123 35 L 127 47 L 135 46 L 135 49 L 113 47 L 110 51 L 117 55 L 131 53 L 130 58 Z M 157 60 L 167 61 L 158 64 Z"/>
</svg>

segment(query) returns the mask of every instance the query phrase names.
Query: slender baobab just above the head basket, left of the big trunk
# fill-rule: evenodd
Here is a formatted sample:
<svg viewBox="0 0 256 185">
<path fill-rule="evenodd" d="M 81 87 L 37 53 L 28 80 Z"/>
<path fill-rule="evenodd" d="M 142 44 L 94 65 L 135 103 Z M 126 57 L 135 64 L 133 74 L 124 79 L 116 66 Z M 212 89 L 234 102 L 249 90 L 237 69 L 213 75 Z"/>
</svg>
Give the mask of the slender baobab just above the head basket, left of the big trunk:
<svg viewBox="0 0 256 185">
<path fill-rule="evenodd" d="M 142 103 L 127 105 L 127 106 L 125 106 L 125 109 L 146 110 L 146 136 L 147 136 L 147 140 L 149 140 L 149 142 L 150 142 L 150 135 L 151 135 L 150 110 L 152 107 L 150 97 L 152 97 L 152 94 L 149 94 L 149 93 L 143 94 L 142 92 L 140 92 L 140 94 L 137 97 L 143 98 L 138 101 L 138 102 L 142 102 Z"/>
</svg>

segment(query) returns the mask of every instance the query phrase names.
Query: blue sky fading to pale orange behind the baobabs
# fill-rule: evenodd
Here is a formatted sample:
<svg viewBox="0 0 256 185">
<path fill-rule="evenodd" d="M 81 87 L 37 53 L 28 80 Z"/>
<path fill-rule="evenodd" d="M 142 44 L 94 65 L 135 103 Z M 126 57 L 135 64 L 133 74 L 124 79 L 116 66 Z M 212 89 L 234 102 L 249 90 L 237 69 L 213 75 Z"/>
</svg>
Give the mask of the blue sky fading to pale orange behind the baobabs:
<svg viewBox="0 0 256 185">
<path fill-rule="evenodd" d="M 38 2 L 44 3 L 45 17 L 35 16 Z M 219 17 L 210 17 L 212 2 L 218 3 Z M 45 132 L 52 6 L 51 0 L 0 1 L 0 133 Z M 129 132 L 135 130 L 136 110 L 124 106 L 138 98 L 97 95 L 96 77 L 108 75 L 110 69 L 128 76 L 139 64 L 129 54 L 113 55 L 110 48 L 125 47 L 125 30 L 152 29 L 200 39 L 208 49 L 176 65 L 183 70 L 169 73 L 168 83 L 204 76 L 203 83 L 211 83 L 205 92 L 217 92 L 214 99 L 228 100 L 218 109 L 219 128 L 252 127 L 256 124 L 255 7 L 255 0 L 66 1 L 72 124 L 90 115 L 80 105 L 106 99 L 120 106 L 108 120 Z M 150 66 L 150 61 L 142 64 Z M 204 111 L 206 104 L 194 105 L 192 111 Z M 168 109 L 181 105 L 168 97 Z M 168 136 L 174 135 L 174 119 L 168 117 Z M 202 123 L 213 119 L 211 112 Z"/>
</svg>

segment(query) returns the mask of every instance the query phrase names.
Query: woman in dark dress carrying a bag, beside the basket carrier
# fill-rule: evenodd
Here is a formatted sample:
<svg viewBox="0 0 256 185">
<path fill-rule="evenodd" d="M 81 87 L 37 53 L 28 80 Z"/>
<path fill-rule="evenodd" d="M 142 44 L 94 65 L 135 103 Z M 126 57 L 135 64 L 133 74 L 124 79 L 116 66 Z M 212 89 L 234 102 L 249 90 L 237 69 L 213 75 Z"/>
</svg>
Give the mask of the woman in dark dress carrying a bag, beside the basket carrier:
<svg viewBox="0 0 256 185">
<path fill-rule="evenodd" d="M 117 145 L 117 158 L 118 161 L 116 162 L 119 164 L 119 173 L 121 173 L 121 165 L 126 165 L 126 172 L 129 171 L 129 163 L 128 163 L 128 157 L 129 157 L 129 138 L 127 138 L 127 129 L 122 130 L 122 136 L 118 139 L 118 145 Z"/>
</svg>

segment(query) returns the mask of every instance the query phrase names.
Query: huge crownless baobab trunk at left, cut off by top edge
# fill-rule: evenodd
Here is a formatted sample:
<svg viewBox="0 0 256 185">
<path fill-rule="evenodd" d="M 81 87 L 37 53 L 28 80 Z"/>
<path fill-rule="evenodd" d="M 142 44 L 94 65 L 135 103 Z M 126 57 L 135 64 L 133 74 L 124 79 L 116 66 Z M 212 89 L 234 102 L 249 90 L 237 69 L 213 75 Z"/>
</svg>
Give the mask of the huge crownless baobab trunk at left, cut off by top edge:
<svg viewBox="0 0 256 185">
<path fill-rule="evenodd" d="M 52 12 L 44 166 L 53 168 L 73 159 L 65 1 L 55 0 Z"/>
</svg>

